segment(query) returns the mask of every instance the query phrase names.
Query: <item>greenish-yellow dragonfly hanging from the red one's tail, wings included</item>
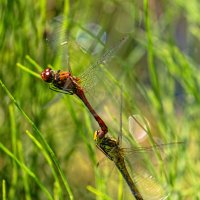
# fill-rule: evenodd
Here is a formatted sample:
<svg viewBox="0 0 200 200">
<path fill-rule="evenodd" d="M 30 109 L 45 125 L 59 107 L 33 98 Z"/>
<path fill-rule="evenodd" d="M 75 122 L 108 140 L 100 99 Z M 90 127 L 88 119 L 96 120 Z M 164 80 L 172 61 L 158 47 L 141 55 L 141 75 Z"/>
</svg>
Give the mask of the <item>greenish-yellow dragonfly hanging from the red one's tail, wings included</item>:
<svg viewBox="0 0 200 200">
<path fill-rule="evenodd" d="M 122 95 L 122 94 L 121 94 Z M 121 97 L 122 101 L 122 97 Z M 143 118 L 140 115 L 131 115 L 129 116 L 129 132 L 131 135 L 134 137 L 138 143 L 141 142 L 141 144 L 145 141 L 145 137 L 147 139 L 149 135 L 149 129 L 150 125 L 148 120 Z M 136 132 L 136 133 L 135 133 Z M 97 148 L 103 152 L 103 154 L 106 155 L 106 157 L 114 162 L 115 166 L 117 169 L 120 171 L 122 174 L 122 177 L 126 181 L 127 185 L 129 186 L 132 195 L 135 197 L 136 200 L 143 200 L 143 199 L 165 199 L 167 195 L 163 191 L 163 188 L 159 184 L 155 184 L 155 182 L 152 182 L 152 176 L 149 176 L 147 178 L 140 178 L 140 177 L 131 177 L 128 168 L 127 168 L 127 154 L 134 154 L 134 159 L 136 159 L 136 154 L 138 155 L 141 153 L 147 154 L 147 153 L 156 153 L 158 151 L 158 154 L 161 155 L 163 148 L 166 147 L 171 147 L 175 145 L 182 144 L 182 142 L 171 142 L 171 143 L 154 143 L 151 146 L 140 146 L 136 147 L 134 149 L 130 148 L 122 148 L 121 143 L 122 143 L 122 103 L 121 103 L 121 108 L 120 108 L 120 131 L 119 131 L 119 136 L 118 139 L 114 139 L 112 137 L 109 137 L 106 135 L 103 138 L 98 137 L 99 131 L 95 131 L 94 133 L 94 141 L 96 143 Z M 156 138 L 153 137 L 153 140 L 156 141 Z M 138 163 L 141 162 L 141 157 L 137 157 L 138 160 L 136 160 Z M 159 158 L 162 160 L 162 157 Z M 135 168 L 134 168 L 135 167 Z M 134 172 L 138 171 L 139 166 L 135 165 L 133 166 Z M 146 166 L 145 166 L 146 167 Z M 143 172 L 142 172 L 143 173 Z M 141 174 L 141 172 L 140 172 Z M 142 177 L 142 176 L 141 176 Z M 141 181 L 139 181 L 141 180 Z M 151 181 L 151 183 L 150 183 Z M 143 185 L 146 183 L 149 183 L 146 188 L 141 188 L 143 182 Z M 151 186 L 154 186 L 153 188 L 150 188 Z M 146 190 L 146 191 L 145 191 Z M 148 194 L 149 190 L 153 191 L 153 194 Z M 154 192 L 155 191 L 155 192 Z M 146 194 L 144 194 L 146 193 Z M 149 197 L 150 196 L 150 197 Z"/>
</svg>

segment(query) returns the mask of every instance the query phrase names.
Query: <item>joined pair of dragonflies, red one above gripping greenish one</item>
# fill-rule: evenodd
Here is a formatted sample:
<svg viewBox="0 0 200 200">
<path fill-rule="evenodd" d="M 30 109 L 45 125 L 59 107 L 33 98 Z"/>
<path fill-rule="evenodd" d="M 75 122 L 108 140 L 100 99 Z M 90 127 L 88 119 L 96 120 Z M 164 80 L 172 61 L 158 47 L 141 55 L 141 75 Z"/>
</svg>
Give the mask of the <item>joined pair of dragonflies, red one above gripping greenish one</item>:
<svg viewBox="0 0 200 200">
<path fill-rule="evenodd" d="M 114 46 L 111 50 L 107 51 L 95 64 L 91 65 L 82 75 L 78 77 L 73 76 L 71 69 L 69 69 L 68 72 L 64 72 L 60 70 L 54 71 L 51 68 L 46 68 L 41 73 L 41 77 L 45 82 L 50 84 L 50 89 L 70 95 L 75 94 L 82 100 L 82 102 L 88 108 L 88 110 L 90 111 L 90 113 L 92 114 L 92 116 L 97 121 L 100 127 L 100 129 L 97 130 L 94 134 L 94 139 L 96 141 L 97 147 L 110 160 L 112 160 L 115 163 L 116 167 L 121 172 L 123 178 L 126 180 L 133 196 L 136 199 L 142 200 L 144 199 L 143 194 L 141 194 L 141 192 L 138 190 L 137 183 L 133 181 L 127 170 L 124 156 L 125 151 L 121 148 L 120 141 L 110 138 L 106 135 L 108 133 L 108 127 L 103 121 L 103 119 L 93 109 L 92 105 L 89 103 L 88 99 L 85 96 L 85 90 L 87 90 L 87 88 L 84 87 L 85 85 L 88 85 L 87 81 L 90 81 L 90 79 L 95 79 L 94 76 L 98 74 L 98 68 L 101 65 L 104 65 L 110 59 L 110 57 L 112 57 L 116 53 L 116 51 L 126 42 L 127 38 L 128 37 L 122 38 L 116 46 Z M 129 129 L 133 127 L 133 124 L 135 124 L 136 126 L 139 125 L 140 132 L 143 132 L 143 134 L 147 135 L 148 131 L 141 126 L 141 123 L 137 120 L 136 116 L 130 116 Z M 120 134 L 122 134 L 122 131 Z M 119 138 L 121 138 L 121 136 Z M 133 152 L 145 152 L 149 150 L 153 151 L 155 148 L 161 149 L 164 146 L 169 145 L 172 145 L 172 143 L 160 145 L 156 144 L 152 147 L 140 147 L 133 150 Z M 159 189 L 156 190 L 157 194 L 154 196 L 155 198 L 152 196 L 153 198 L 149 199 L 164 199 L 166 197 L 166 195 L 162 193 L 163 191 L 160 189 L 160 186 L 158 188 Z"/>
</svg>

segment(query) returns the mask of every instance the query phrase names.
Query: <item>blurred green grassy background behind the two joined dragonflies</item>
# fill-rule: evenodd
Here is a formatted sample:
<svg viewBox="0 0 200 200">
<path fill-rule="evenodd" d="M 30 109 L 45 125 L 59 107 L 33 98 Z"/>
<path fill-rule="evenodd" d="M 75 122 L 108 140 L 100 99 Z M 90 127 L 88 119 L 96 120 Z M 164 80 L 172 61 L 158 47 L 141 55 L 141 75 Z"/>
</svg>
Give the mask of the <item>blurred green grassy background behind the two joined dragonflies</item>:
<svg viewBox="0 0 200 200">
<path fill-rule="evenodd" d="M 114 92 L 119 97 L 123 84 L 124 132 L 128 135 L 128 116 L 140 114 L 163 143 L 184 142 L 168 149 L 162 181 L 169 199 L 199 199 L 199 10 L 198 0 L 0 0 L 0 198 L 132 199 L 114 165 L 103 161 L 97 167 L 103 155 L 96 150 L 98 126 L 87 109 L 74 96 L 60 98 L 38 76 L 48 64 L 67 70 L 56 41 L 60 32 L 53 42 L 45 40 L 48 22 L 56 18 L 60 25 L 53 28 L 65 27 L 72 41 L 89 23 L 106 33 L 95 55 L 69 49 L 75 75 L 129 36 L 106 65 L 91 102 L 117 138 L 113 116 L 120 103 L 109 106 L 106 100 L 112 102 Z"/>
</svg>

